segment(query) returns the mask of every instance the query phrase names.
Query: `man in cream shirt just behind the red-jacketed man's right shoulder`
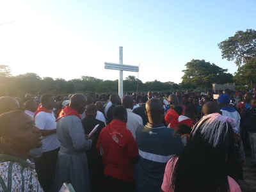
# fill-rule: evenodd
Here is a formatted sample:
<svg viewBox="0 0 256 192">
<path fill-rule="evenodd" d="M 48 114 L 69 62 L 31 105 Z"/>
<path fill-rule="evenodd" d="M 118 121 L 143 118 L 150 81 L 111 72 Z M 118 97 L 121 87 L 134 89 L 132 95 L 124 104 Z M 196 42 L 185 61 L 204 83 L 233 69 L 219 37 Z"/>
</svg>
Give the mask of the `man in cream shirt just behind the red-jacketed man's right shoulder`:
<svg viewBox="0 0 256 192">
<path fill-rule="evenodd" d="M 136 130 L 139 127 L 143 128 L 143 120 L 140 115 L 132 113 L 133 99 L 130 96 L 125 96 L 122 101 L 123 107 L 127 110 L 127 129 L 132 132 L 134 139 L 136 138 Z"/>
</svg>

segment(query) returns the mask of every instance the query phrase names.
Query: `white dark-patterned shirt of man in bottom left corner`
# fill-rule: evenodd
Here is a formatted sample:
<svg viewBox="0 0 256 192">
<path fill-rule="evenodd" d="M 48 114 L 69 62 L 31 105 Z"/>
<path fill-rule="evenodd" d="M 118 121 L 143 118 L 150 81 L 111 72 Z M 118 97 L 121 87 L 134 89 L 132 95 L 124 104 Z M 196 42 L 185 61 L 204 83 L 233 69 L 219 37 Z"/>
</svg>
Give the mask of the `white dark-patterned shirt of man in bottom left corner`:
<svg viewBox="0 0 256 192">
<path fill-rule="evenodd" d="M 0 154 L 0 191 L 44 192 L 29 160 Z"/>
</svg>

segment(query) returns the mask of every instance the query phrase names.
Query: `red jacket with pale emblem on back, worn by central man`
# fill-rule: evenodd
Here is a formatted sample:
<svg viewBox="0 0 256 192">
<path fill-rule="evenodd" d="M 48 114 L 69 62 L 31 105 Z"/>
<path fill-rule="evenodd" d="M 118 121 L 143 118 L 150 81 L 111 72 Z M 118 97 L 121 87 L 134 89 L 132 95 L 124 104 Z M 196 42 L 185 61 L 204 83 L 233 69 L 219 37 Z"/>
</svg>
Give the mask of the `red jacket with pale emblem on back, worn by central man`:
<svg viewBox="0 0 256 192">
<path fill-rule="evenodd" d="M 104 174 L 124 181 L 134 180 L 132 159 L 138 146 L 126 123 L 114 119 L 100 132 L 97 149 L 102 153 Z"/>
</svg>

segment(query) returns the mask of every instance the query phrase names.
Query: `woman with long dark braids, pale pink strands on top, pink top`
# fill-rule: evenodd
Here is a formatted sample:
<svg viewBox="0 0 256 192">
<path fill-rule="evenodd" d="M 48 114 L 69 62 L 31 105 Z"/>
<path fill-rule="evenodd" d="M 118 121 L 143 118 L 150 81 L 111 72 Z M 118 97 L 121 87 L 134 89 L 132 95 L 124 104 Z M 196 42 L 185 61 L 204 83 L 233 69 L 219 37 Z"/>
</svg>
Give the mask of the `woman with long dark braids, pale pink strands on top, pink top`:
<svg viewBox="0 0 256 192">
<path fill-rule="evenodd" d="M 193 127 L 188 145 L 166 165 L 164 192 L 239 192 L 228 176 L 230 159 L 236 158 L 234 120 L 219 113 L 204 116 Z"/>
</svg>

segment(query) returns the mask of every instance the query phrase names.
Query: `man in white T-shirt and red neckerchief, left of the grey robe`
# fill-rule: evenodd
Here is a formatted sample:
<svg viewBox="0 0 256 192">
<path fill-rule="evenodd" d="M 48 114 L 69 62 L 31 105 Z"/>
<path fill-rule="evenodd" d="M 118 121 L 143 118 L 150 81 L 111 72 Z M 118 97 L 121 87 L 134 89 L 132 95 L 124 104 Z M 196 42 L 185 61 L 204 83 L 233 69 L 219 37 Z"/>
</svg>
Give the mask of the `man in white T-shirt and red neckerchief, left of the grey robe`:
<svg viewBox="0 0 256 192">
<path fill-rule="evenodd" d="M 43 136 L 42 156 L 35 159 L 36 172 L 44 191 L 51 191 L 55 173 L 60 142 L 56 136 L 56 122 L 52 109 L 55 106 L 52 95 L 42 95 L 41 105 L 35 112 L 35 124 Z"/>
</svg>

